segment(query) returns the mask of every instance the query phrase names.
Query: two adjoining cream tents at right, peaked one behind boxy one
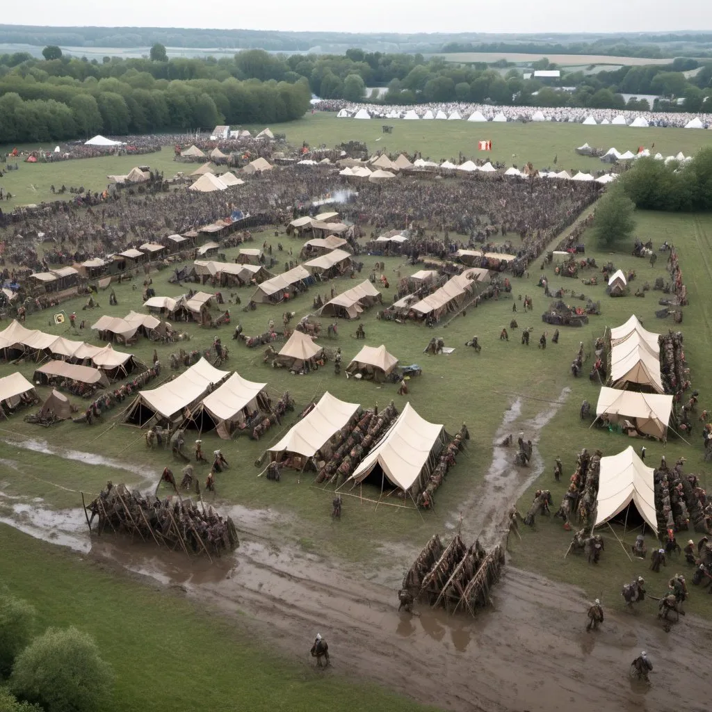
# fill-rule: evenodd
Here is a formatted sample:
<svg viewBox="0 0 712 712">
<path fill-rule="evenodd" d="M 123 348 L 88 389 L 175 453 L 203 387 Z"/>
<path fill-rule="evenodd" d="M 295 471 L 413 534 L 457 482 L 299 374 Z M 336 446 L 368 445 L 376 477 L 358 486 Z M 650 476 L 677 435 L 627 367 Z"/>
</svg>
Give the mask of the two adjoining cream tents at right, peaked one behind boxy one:
<svg viewBox="0 0 712 712">
<path fill-rule="evenodd" d="M 645 330 L 635 315 L 610 330 L 612 387 L 601 388 L 596 417 L 632 426 L 662 440 L 667 434 L 673 397 L 664 394 L 658 337 Z"/>
</svg>

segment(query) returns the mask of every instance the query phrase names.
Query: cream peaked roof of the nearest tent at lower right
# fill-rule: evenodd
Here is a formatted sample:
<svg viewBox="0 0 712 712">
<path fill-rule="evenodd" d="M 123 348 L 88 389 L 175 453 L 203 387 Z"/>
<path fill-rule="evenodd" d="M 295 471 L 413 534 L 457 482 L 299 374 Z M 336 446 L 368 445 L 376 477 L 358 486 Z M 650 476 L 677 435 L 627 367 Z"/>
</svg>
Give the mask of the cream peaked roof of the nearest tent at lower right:
<svg viewBox="0 0 712 712">
<path fill-rule="evenodd" d="M 595 526 L 606 523 L 630 503 L 634 503 L 657 533 L 653 468 L 643 464 L 632 446 L 617 455 L 601 458 Z"/>
</svg>

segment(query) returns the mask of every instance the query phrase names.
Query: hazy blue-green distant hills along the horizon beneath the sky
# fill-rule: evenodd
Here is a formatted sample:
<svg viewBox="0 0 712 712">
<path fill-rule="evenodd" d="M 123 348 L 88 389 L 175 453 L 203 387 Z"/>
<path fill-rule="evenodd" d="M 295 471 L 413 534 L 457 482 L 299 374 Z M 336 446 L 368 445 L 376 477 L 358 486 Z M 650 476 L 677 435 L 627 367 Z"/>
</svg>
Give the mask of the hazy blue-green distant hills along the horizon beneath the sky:
<svg viewBox="0 0 712 712">
<path fill-rule="evenodd" d="M 464 33 L 278 32 L 155 27 L 42 27 L 0 25 L 4 45 L 71 48 L 141 48 L 154 43 L 172 48 L 342 54 L 348 48 L 370 52 L 496 52 L 606 55 L 641 58 L 712 56 L 712 32 L 497 35 Z"/>
</svg>

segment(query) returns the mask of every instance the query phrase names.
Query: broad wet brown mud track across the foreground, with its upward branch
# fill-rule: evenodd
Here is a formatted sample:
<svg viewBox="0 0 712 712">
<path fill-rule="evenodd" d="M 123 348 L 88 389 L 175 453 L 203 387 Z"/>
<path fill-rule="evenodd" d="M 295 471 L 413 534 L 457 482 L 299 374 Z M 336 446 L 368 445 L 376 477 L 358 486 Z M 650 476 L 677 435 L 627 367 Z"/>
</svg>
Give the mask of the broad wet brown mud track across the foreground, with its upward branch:
<svg viewBox="0 0 712 712">
<path fill-rule="evenodd" d="M 519 414 L 515 402 L 501 432 L 531 436 L 553 410 L 527 423 L 518 422 Z M 491 471 L 473 494 L 487 506 L 480 508 L 481 519 L 464 518 L 466 538 L 500 528 L 503 503 L 515 501 L 535 476 L 536 463 L 532 471 L 512 474 L 511 457 L 513 449 L 495 449 Z M 313 664 L 308 648 L 320 632 L 333 653 L 333 667 L 324 674 L 370 679 L 422 703 L 487 712 L 708 709 L 703 671 L 712 625 L 688 616 L 665 633 L 651 615 L 654 603 L 644 604 L 645 612 L 607 612 L 602 630 L 587 634 L 582 591 L 506 567 L 495 607 L 478 618 L 449 618 L 424 607 L 411 616 L 397 613 L 396 592 L 417 553 L 406 547 L 387 568 L 357 570 L 277 543 L 277 515 L 234 508 L 241 547 L 229 560 L 209 565 L 114 538 L 90 541 L 81 511 L 50 513 L 1 493 L 0 504 L 12 508 L 0 520 L 27 533 L 90 549 L 93 557 L 181 587 L 226 615 L 248 614 L 240 616 L 241 625 L 249 619 L 264 642 L 305 666 Z M 642 649 L 655 666 L 651 686 L 628 676 Z"/>
</svg>

